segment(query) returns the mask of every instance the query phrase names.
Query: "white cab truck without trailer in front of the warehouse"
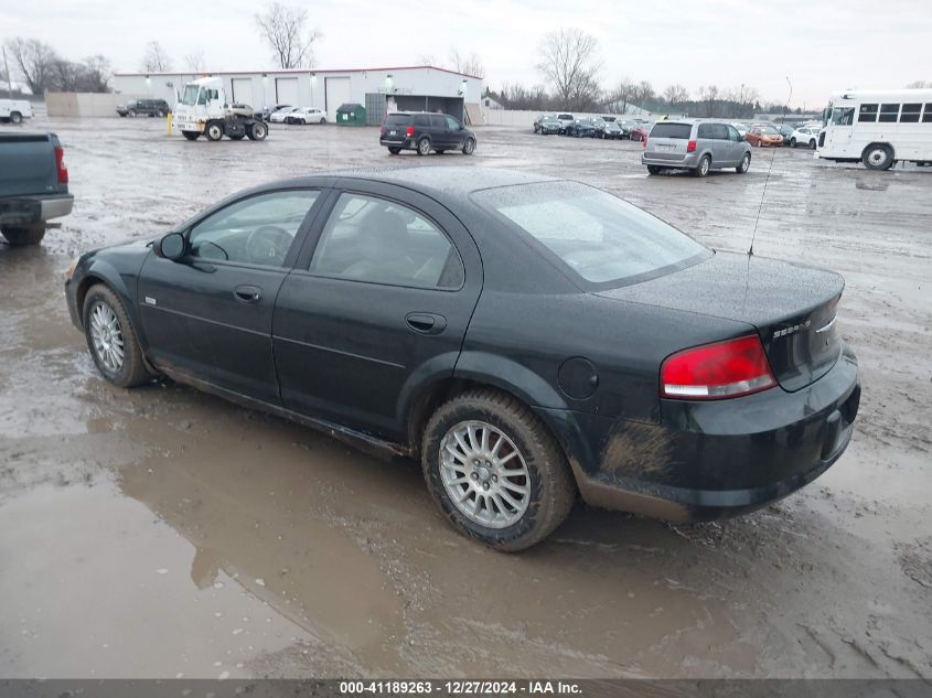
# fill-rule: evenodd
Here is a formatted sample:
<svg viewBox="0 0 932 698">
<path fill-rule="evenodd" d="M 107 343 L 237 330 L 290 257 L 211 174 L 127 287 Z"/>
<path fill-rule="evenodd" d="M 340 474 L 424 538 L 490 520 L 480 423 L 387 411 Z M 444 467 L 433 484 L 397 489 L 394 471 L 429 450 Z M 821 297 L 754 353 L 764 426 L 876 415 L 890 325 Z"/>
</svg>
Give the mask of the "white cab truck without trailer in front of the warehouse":
<svg viewBox="0 0 932 698">
<path fill-rule="evenodd" d="M 207 140 L 224 136 L 233 140 L 265 140 L 268 126 L 256 118 L 231 110 L 229 101 L 218 77 L 202 77 L 184 85 L 181 100 L 172 114 L 172 132 L 188 140 L 203 133 Z"/>
</svg>

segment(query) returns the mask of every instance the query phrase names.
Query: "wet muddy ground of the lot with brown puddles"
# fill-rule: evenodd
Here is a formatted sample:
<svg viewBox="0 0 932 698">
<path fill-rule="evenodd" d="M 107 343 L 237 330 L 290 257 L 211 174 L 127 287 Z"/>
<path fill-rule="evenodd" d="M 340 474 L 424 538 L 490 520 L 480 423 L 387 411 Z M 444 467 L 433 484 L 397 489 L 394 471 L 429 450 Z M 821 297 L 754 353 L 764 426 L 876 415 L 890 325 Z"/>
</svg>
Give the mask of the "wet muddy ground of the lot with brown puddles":
<svg viewBox="0 0 932 698">
<path fill-rule="evenodd" d="M 11 127 L 0 127 L 11 128 Z M 0 244 L 0 676 L 932 677 L 932 168 L 754 151 L 649 178 L 636 143 L 484 128 L 473 158 L 389 158 L 374 129 L 190 143 L 150 119 L 35 119 L 73 215 Z M 347 165 L 447 162 L 597 184 L 701 241 L 824 265 L 861 365 L 850 448 L 740 519 L 577 507 L 501 555 L 452 533 L 418 466 L 178 385 L 105 383 L 68 322 L 77 254 L 218 197 Z"/>
</svg>

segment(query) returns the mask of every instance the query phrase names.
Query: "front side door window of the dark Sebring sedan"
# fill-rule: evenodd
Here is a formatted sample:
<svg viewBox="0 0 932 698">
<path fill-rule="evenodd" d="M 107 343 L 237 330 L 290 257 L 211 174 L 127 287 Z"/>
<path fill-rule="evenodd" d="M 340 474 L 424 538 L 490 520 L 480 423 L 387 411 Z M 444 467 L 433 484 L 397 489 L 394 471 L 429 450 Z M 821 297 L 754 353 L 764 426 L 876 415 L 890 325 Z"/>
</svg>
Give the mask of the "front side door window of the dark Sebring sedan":
<svg viewBox="0 0 932 698">
<path fill-rule="evenodd" d="M 189 234 L 192 257 L 280 267 L 320 192 L 259 194 L 217 211 Z"/>
</svg>

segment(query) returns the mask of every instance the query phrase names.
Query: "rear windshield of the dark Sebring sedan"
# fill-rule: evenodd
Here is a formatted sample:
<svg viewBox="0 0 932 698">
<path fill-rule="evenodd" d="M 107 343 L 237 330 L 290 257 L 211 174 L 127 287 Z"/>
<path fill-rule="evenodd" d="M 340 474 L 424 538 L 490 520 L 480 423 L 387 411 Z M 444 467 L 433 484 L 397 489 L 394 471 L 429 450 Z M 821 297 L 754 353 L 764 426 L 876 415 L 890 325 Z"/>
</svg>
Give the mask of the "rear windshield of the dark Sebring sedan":
<svg viewBox="0 0 932 698">
<path fill-rule="evenodd" d="M 592 289 L 636 283 L 713 254 L 645 211 L 576 182 L 503 186 L 472 197 Z"/>
</svg>

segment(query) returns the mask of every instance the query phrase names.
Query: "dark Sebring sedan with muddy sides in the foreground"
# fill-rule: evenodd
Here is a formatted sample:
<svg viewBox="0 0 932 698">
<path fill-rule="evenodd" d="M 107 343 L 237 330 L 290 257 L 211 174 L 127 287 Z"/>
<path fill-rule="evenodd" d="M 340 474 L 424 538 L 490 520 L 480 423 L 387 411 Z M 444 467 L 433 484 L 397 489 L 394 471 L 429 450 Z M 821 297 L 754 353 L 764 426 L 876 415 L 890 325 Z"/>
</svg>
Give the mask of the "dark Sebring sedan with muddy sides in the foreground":
<svg viewBox="0 0 932 698">
<path fill-rule="evenodd" d="M 860 395 L 843 286 L 461 167 L 251 189 L 85 254 L 66 296 L 116 385 L 164 375 L 418 459 L 453 526 L 518 550 L 577 495 L 696 520 L 823 473 Z"/>
</svg>

